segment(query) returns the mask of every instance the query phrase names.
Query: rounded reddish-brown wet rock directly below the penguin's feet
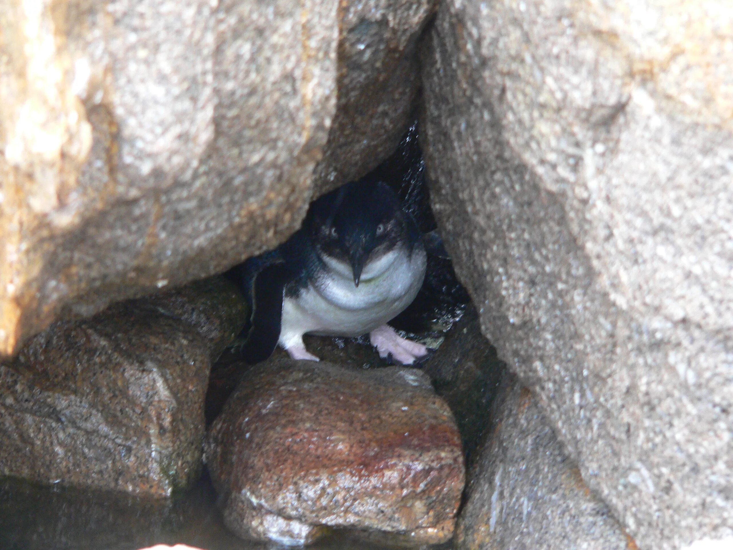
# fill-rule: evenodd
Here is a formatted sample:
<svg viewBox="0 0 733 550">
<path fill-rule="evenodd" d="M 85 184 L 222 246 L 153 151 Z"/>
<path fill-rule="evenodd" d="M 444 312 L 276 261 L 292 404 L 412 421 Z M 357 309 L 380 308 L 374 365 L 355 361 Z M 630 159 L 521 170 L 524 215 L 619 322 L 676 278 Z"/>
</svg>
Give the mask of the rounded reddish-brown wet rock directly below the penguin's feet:
<svg viewBox="0 0 733 550">
<path fill-rule="evenodd" d="M 452 414 L 419 370 L 271 359 L 244 376 L 207 436 L 229 529 L 309 543 L 326 527 L 451 537 L 463 491 Z"/>
</svg>

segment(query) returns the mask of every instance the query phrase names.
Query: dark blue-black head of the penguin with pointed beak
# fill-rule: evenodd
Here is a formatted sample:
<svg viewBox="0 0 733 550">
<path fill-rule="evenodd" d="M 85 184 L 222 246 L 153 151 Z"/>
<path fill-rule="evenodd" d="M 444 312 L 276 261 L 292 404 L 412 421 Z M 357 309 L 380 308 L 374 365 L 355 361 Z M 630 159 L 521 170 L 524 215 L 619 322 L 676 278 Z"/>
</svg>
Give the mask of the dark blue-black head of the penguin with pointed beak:
<svg viewBox="0 0 733 550">
<path fill-rule="evenodd" d="M 320 197 L 311 206 L 309 221 L 320 256 L 350 270 L 357 287 L 370 263 L 412 244 L 408 214 L 394 191 L 375 177 Z"/>
</svg>

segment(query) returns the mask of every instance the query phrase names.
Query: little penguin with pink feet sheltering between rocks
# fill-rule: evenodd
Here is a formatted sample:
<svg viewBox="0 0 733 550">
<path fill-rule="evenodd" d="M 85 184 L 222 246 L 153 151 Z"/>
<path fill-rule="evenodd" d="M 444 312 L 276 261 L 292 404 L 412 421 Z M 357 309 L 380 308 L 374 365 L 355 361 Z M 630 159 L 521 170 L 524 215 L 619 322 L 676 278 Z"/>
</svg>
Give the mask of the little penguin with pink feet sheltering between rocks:
<svg viewBox="0 0 733 550">
<path fill-rule="evenodd" d="M 230 272 L 252 304 L 244 356 L 258 362 L 280 345 L 293 359 L 318 361 L 303 334 L 368 333 L 381 357 L 413 364 L 427 348 L 386 323 L 413 301 L 426 264 L 394 191 L 377 177 L 347 183 L 313 202 L 288 241 Z"/>
</svg>

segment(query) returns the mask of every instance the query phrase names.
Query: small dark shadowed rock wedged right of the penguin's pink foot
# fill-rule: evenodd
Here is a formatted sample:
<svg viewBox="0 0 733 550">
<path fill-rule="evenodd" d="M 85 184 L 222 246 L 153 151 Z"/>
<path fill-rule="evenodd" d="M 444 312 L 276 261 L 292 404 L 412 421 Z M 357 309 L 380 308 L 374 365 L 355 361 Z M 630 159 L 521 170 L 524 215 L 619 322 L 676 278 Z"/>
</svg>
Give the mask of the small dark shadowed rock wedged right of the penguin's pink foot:
<svg viewBox="0 0 733 550">
<path fill-rule="evenodd" d="M 491 403 L 506 370 L 507 365 L 496 356 L 496 348 L 481 334 L 474 307 L 468 307 L 423 368 L 435 392 L 453 411 L 469 463 L 484 435 Z"/>
</svg>

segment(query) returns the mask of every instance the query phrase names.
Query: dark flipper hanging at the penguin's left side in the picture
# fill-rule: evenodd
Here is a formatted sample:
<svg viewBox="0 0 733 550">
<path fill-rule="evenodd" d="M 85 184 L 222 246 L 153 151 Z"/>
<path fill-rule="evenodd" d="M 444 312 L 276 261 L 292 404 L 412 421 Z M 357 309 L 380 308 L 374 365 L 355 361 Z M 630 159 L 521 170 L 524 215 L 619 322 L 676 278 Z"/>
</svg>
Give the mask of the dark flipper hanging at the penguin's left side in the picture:
<svg viewBox="0 0 733 550">
<path fill-rule="evenodd" d="M 292 271 L 282 261 L 265 265 L 251 277 L 251 326 L 242 350 L 246 362 L 264 361 L 275 351 L 285 286 L 293 279 Z"/>
</svg>

